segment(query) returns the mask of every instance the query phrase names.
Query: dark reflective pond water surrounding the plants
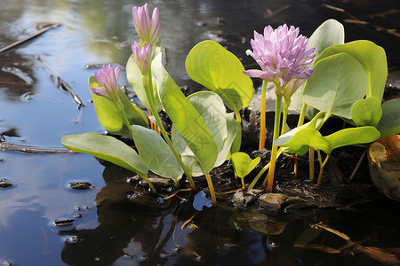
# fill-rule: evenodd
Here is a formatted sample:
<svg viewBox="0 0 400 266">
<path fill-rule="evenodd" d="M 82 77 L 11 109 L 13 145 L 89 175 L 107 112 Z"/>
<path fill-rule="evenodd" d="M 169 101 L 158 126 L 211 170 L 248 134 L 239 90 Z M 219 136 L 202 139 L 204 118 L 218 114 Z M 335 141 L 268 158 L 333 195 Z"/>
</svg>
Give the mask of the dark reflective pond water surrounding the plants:
<svg viewBox="0 0 400 266">
<path fill-rule="evenodd" d="M 383 46 L 389 72 L 398 71 L 399 37 L 393 34 L 400 28 L 397 1 L 358 2 L 156 0 L 149 6 L 160 9 L 166 67 L 178 85 L 196 90 L 198 85 L 184 68 L 196 43 L 218 41 L 247 65 L 252 59 L 244 52 L 254 29 L 260 32 L 268 24 L 287 23 L 309 36 L 330 18 L 344 23 L 347 41 L 368 39 Z M 1 0 L 0 47 L 35 33 L 44 23 L 61 26 L 0 54 L 0 141 L 62 149 L 60 138 L 66 135 L 103 133 L 87 79 L 102 64 L 126 64 L 131 43 L 139 39 L 132 6 L 142 4 Z M 367 24 L 353 23 L 356 19 Z M 77 108 L 68 91 L 59 88 L 58 75 L 84 106 Z M 120 85 L 128 85 L 124 69 L 121 76 Z M 356 213 L 332 210 L 301 219 L 263 216 L 270 228 L 260 231 L 243 218 L 256 214 L 223 202 L 202 212 L 177 198 L 135 203 L 140 188 L 132 190 L 126 183 L 129 176 L 132 172 L 88 154 L 0 149 L 0 179 L 12 182 L 11 187 L 0 188 L 0 265 L 380 265 L 365 254 L 328 255 L 293 247 L 309 230 L 308 223 L 325 219 L 367 246 L 399 247 L 399 206 L 385 198 Z M 92 187 L 76 191 L 68 187 L 72 182 Z M 55 221 L 64 221 L 65 226 Z M 320 233 L 320 242 L 333 247 L 344 243 L 331 233 Z"/>
</svg>

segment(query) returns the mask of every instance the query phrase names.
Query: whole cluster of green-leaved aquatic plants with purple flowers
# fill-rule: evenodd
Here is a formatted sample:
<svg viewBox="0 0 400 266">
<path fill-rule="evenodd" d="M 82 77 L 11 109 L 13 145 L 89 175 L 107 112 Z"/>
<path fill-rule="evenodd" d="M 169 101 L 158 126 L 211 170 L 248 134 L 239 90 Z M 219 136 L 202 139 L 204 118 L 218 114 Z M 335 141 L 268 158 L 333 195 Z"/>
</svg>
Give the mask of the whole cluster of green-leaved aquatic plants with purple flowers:
<svg viewBox="0 0 400 266">
<path fill-rule="evenodd" d="M 263 80 L 260 149 L 265 143 L 267 82 L 275 84 L 276 119 L 271 160 L 249 189 L 269 167 L 264 185 L 268 180 L 268 191 L 272 191 L 276 158 L 282 153 L 304 155 L 309 151 L 312 165 L 314 149 L 324 151 L 327 156 L 323 163 L 318 153 L 319 184 L 324 164 L 336 147 L 371 143 L 399 131 L 398 125 L 388 126 L 386 120 L 390 116 L 385 118 L 383 113 L 385 121 L 380 119 L 380 102 L 388 74 L 385 52 L 367 41 L 344 43 L 343 27 L 336 20 L 324 22 L 309 40 L 299 35 L 299 28 L 286 25 L 277 29 L 268 26 L 264 35 L 255 32 L 253 51 L 246 53 L 259 63 L 261 70 L 244 70 L 240 60 L 219 43 L 198 43 L 188 54 L 186 69 L 191 79 L 209 90 L 185 97 L 162 63 L 158 9 L 150 18 L 148 4 L 134 7 L 132 17 L 140 43 L 132 44 L 126 74 L 148 114 L 119 88 L 120 66 L 103 66 L 89 78 L 89 87 L 103 128 L 112 135 L 132 138 L 139 154 L 116 137 L 96 133 L 63 137 L 62 144 L 132 170 L 154 192 L 156 188 L 148 179 L 148 171 L 172 178 L 175 183 L 185 175 L 192 189 L 195 189 L 193 176 L 204 175 L 212 202 L 216 204 L 210 172 L 226 160 L 232 161 L 244 186 L 244 176 L 260 162 L 238 153 L 242 138 L 240 111 L 250 104 L 254 93 L 251 77 Z M 280 129 L 282 102 L 284 115 Z M 233 112 L 228 113 L 226 106 Z M 286 130 L 288 109 L 300 112 L 298 127 L 292 130 Z M 172 121 L 170 133 L 159 117 L 161 110 Z M 323 137 L 318 130 L 332 115 L 358 127 Z M 303 125 L 306 116 L 310 121 Z"/>
</svg>

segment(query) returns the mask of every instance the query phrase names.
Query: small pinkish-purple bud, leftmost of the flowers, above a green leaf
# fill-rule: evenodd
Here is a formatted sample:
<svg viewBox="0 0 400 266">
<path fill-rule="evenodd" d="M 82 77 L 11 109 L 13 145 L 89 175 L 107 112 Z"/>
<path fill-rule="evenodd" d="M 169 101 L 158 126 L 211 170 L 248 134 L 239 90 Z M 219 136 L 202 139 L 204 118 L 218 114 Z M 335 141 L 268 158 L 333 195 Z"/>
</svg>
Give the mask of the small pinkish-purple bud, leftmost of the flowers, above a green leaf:
<svg viewBox="0 0 400 266">
<path fill-rule="evenodd" d="M 114 69 L 114 67 L 111 65 L 103 65 L 103 68 L 99 70 L 99 73 L 94 72 L 94 76 L 100 83 L 101 87 L 91 88 L 92 92 L 112 101 L 117 101 L 119 99 L 118 79 L 120 72 L 120 66 L 116 66 L 116 69 Z"/>
</svg>

